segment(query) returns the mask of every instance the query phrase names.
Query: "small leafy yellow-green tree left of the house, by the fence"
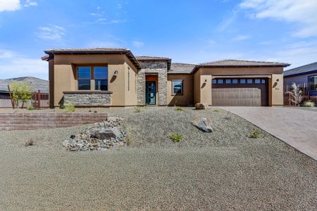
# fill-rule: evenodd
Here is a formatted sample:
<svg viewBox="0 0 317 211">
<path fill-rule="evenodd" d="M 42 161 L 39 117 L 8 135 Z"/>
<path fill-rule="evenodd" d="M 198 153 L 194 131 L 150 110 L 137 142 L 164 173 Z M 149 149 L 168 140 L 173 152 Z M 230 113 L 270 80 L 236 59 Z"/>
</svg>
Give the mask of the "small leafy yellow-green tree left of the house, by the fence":
<svg viewBox="0 0 317 211">
<path fill-rule="evenodd" d="M 27 82 L 13 82 L 11 88 L 14 105 L 17 107 L 19 106 L 19 101 L 22 101 L 21 108 L 23 108 L 25 101 L 30 101 L 32 99 L 32 91 L 34 88 L 31 84 Z"/>
</svg>

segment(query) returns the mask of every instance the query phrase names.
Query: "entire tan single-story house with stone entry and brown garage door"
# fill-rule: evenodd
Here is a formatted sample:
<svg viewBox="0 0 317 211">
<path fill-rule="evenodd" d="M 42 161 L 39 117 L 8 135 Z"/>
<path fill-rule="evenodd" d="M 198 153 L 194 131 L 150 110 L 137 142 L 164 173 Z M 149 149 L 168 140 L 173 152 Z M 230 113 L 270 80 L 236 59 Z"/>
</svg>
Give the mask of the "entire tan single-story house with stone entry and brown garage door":
<svg viewBox="0 0 317 211">
<path fill-rule="evenodd" d="M 282 106 L 287 63 L 220 60 L 199 65 L 134 56 L 128 49 L 53 49 L 49 61 L 50 107 Z"/>
</svg>

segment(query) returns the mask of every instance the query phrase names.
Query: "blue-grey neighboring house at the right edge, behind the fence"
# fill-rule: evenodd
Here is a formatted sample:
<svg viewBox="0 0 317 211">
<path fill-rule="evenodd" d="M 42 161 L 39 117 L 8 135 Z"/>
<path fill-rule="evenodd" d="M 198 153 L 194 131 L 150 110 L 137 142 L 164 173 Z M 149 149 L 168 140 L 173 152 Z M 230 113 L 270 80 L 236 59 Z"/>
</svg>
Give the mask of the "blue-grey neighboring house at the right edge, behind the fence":
<svg viewBox="0 0 317 211">
<path fill-rule="evenodd" d="M 317 63 L 284 71 L 285 86 L 290 86 L 293 82 L 306 87 L 309 96 L 317 96 Z"/>
</svg>

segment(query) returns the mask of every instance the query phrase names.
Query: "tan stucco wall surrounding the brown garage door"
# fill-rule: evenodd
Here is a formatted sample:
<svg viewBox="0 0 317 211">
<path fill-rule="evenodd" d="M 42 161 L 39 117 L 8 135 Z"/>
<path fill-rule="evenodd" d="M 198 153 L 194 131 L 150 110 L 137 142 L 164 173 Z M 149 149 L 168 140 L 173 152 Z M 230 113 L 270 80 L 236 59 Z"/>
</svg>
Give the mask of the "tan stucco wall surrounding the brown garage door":
<svg viewBox="0 0 317 211">
<path fill-rule="evenodd" d="M 206 102 L 212 105 L 211 79 L 217 76 L 259 76 L 271 77 L 268 84 L 269 105 L 283 105 L 283 68 L 199 68 L 194 74 L 194 103 Z M 279 82 L 276 80 L 279 79 Z M 205 82 L 206 80 L 206 82 Z M 276 84 L 275 84 L 276 82 Z M 273 88 L 275 84 L 275 87 Z"/>
</svg>

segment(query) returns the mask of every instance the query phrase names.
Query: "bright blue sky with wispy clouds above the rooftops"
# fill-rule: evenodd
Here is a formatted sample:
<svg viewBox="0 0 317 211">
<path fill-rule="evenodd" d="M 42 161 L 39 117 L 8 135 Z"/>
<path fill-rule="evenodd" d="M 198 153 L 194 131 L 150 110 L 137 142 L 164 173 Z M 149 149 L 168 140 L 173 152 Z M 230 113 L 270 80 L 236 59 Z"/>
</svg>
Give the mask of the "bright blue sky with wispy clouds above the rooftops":
<svg viewBox="0 0 317 211">
<path fill-rule="evenodd" d="M 0 79 L 48 79 L 46 49 L 120 47 L 172 62 L 317 61 L 317 0 L 0 0 Z"/>
</svg>

